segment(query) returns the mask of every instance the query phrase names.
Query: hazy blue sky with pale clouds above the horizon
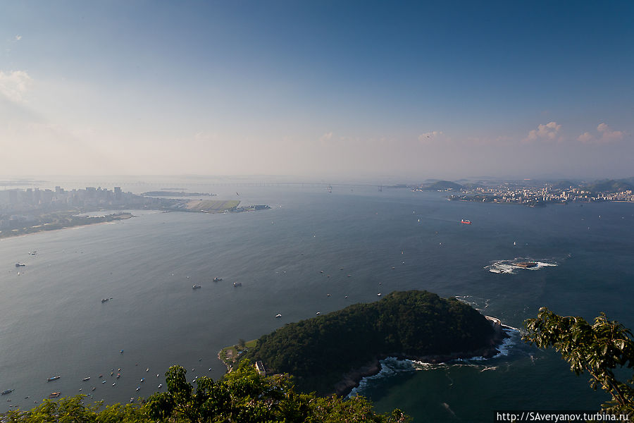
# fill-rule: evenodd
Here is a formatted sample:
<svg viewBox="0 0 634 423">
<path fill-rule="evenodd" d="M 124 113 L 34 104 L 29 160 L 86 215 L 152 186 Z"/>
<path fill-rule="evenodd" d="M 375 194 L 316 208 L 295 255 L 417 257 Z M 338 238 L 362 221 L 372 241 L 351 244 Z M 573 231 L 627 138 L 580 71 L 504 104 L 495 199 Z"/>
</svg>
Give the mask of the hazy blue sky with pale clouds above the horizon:
<svg viewBox="0 0 634 423">
<path fill-rule="evenodd" d="M 634 4 L 0 4 L 6 175 L 633 176 Z"/>
</svg>

